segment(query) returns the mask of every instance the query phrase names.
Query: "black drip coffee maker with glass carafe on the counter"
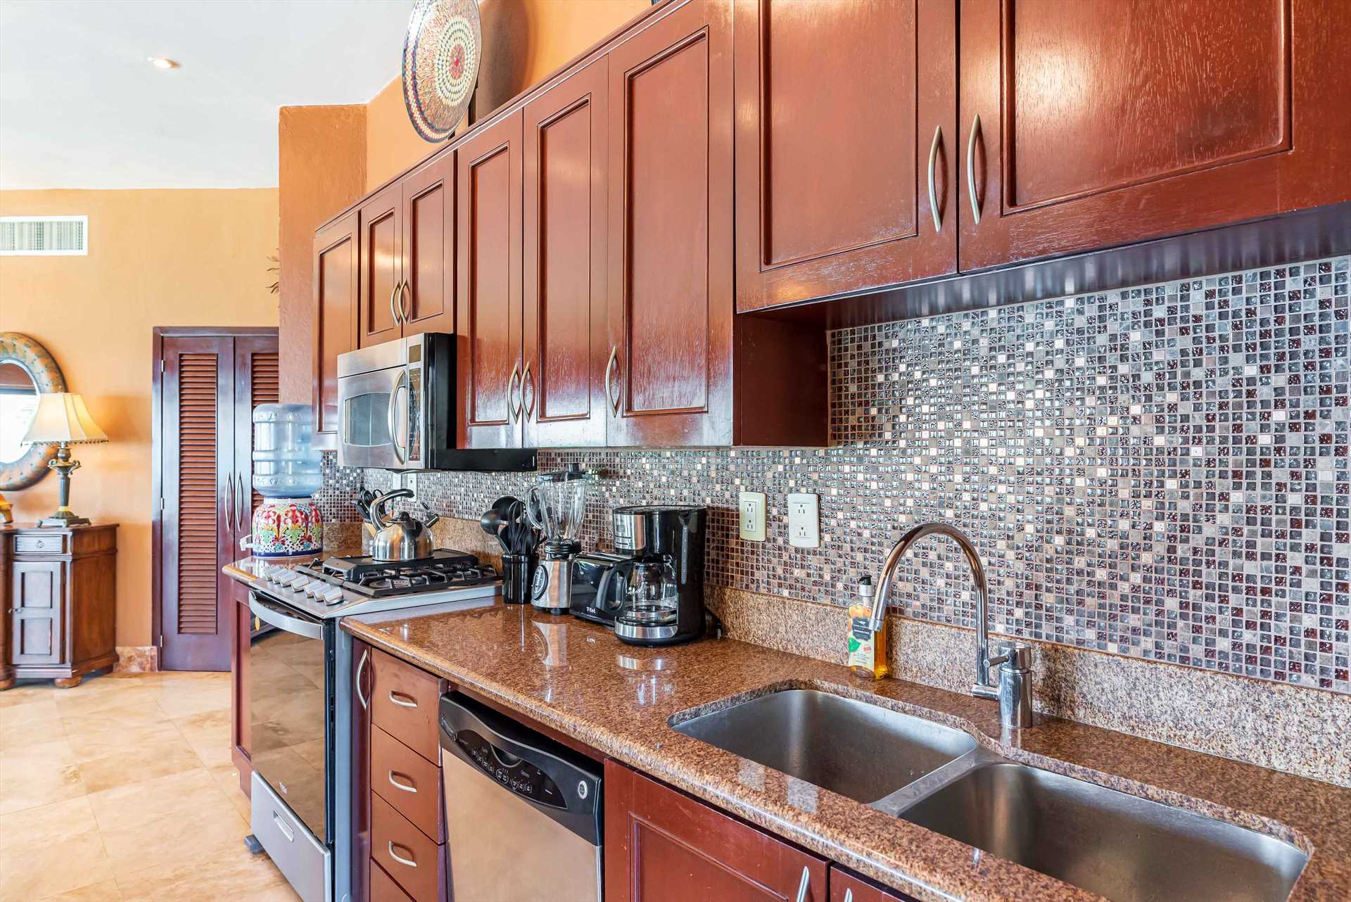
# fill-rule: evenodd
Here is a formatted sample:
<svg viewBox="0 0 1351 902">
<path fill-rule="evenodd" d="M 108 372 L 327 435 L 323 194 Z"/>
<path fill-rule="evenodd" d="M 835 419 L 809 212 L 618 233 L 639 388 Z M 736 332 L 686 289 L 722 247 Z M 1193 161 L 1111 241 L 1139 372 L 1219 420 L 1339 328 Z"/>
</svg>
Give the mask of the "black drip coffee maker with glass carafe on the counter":
<svg viewBox="0 0 1351 902">
<path fill-rule="evenodd" d="M 631 645 L 674 645 L 704 632 L 707 508 L 634 505 L 612 513 L 615 551 L 628 558 L 615 635 Z"/>
</svg>

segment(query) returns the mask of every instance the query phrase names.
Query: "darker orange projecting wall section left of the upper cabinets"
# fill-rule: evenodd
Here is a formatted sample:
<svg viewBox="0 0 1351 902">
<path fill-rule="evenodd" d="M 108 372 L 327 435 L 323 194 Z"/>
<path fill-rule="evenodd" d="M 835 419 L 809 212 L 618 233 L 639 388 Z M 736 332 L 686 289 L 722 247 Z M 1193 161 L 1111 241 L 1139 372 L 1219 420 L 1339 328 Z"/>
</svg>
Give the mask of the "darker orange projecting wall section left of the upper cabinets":
<svg viewBox="0 0 1351 902">
<path fill-rule="evenodd" d="M 281 223 L 281 334 L 308 336 L 313 324 L 315 230 L 365 193 L 366 105 L 282 107 L 277 116 L 277 204 Z M 313 397 L 313 346 L 288 342 L 281 400 Z"/>
</svg>

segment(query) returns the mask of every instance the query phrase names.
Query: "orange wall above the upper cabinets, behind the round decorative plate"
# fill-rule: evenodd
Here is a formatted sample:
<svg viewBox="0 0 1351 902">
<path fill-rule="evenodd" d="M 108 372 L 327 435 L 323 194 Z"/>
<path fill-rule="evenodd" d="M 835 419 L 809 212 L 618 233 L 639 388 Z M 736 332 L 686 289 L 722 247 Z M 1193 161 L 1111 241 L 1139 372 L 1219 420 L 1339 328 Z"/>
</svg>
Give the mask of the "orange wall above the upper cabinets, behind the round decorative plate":
<svg viewBox="0 0 1351 902">
<path fill-rule="evenodd" d="M 634 16 L 648 0 L 482 0 L 484 69 L 480 99 L 507 103 Z M 486 116 L 492 109 L 480 109 Z M 366 190 L 435 150 L 417 136 L 394 78 L 366 104 Z"/>
</svg>

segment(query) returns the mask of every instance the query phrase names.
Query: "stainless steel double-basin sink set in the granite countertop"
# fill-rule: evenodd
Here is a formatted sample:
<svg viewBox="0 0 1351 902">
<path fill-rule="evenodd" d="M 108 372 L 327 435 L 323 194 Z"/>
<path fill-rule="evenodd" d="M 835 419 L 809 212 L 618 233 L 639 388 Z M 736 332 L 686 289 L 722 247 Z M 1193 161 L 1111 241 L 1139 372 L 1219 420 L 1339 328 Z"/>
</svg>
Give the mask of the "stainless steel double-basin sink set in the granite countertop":
<svg viewBox="0 0 1351 902">
<path fill-rule="evenodd" d="M 680 733 L 1112 902 L 1282 902 L 1308 856 L 1247 828 L 1016 764 L 951 726 L 812 689 Z"/>
</svg>

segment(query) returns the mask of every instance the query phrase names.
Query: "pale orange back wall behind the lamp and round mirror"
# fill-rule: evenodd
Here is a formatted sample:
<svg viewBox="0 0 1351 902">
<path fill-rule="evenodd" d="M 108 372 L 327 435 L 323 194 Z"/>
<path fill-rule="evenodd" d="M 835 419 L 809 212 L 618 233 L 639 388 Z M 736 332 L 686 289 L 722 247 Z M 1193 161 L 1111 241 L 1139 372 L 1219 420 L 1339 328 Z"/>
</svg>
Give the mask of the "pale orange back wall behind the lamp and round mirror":
<svg viewBox="0 0 1351 902">
<path fill-rule="evenodd" d="M 0 257 L 0 329 L 42 342 L 108 433 L 74 448 L 70 506 L 122 524 L 118 644 L 149 645 L 151 329 L 277 324 L 277 189 L 0 192 L 0 215 L 30 213 L 86 213 L 89 255 Z M 57 479 L 5 497 L 35 520 Z"/>
</svg>

